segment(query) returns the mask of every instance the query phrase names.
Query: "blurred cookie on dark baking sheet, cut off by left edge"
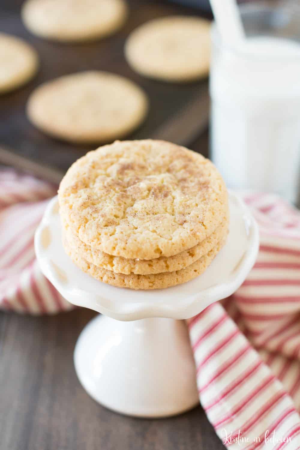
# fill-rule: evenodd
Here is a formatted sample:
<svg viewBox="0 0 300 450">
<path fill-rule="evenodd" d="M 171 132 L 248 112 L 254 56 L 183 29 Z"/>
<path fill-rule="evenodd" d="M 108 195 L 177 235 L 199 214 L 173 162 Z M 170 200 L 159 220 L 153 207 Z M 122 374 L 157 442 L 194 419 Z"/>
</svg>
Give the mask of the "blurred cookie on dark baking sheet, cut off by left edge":
<svg viewBox="0 0 300 450">
<path fill-rule="evenodd" d="M 36 50 L 24 40 L 0 33 L 0 94 L 25 84 L 39 65 Z"/>
</svg>

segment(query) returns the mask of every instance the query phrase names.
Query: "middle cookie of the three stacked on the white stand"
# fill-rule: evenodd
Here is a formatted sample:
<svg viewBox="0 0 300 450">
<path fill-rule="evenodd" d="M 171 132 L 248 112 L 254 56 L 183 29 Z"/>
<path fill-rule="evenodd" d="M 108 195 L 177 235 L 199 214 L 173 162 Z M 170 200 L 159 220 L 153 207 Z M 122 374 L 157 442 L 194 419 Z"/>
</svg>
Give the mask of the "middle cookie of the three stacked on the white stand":
<svg viewBox="0 0 300 450">
<path fill-rule="evenodd" d="M 67 241 L 68 247 L 76 251 L 80 257 L 94 264 L 94 266 L 125 275 L 159 274 L 183 269 L 210 252 L 227 234 L 228 217 L 224 217 L 224 222 L 208 238 L 195 247 L 171 257 L 141 260 L 108 255 L 108 253 L 101 252 L 101 250 L 94 249 L 82 242 L 76 234 L 72 233 L 70 227 L 63 227 L 63 236 Z"/>
</svg>

